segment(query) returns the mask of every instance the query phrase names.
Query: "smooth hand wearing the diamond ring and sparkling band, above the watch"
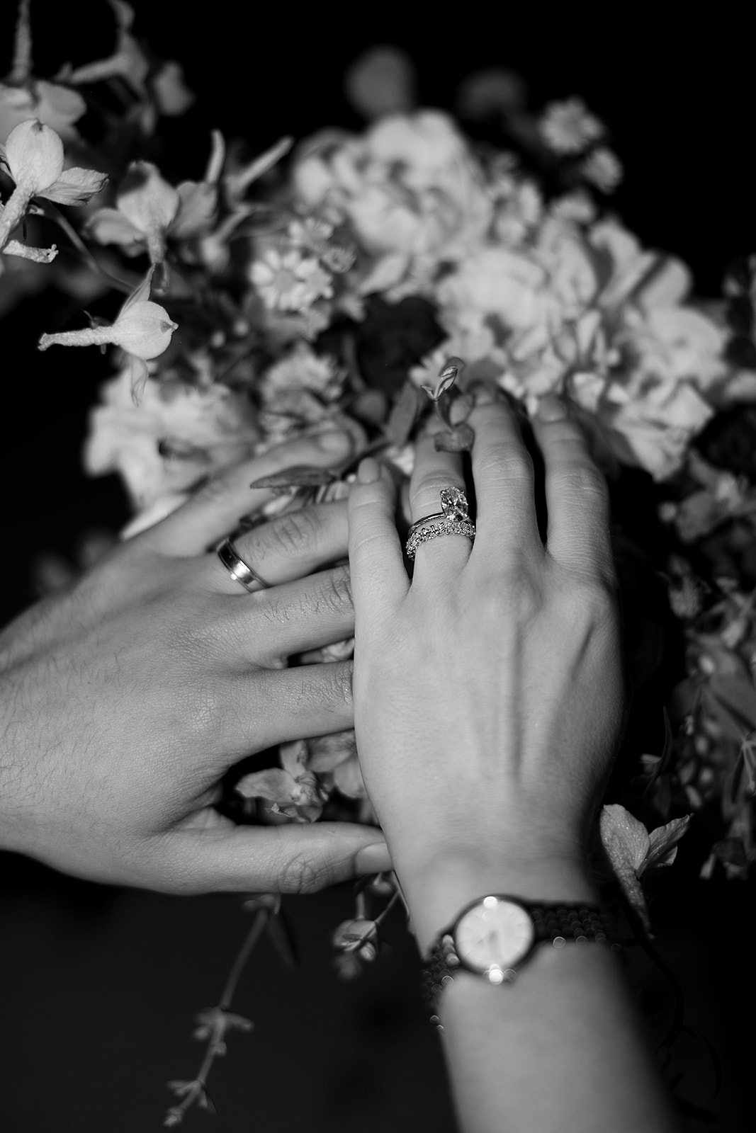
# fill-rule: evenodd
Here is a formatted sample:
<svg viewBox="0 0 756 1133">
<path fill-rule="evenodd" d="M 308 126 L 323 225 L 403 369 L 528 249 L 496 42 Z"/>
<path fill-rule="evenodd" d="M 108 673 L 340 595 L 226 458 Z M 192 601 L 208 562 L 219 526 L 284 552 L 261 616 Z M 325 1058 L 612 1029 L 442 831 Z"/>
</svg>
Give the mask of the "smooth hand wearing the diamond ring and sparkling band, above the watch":
<svg viewBox="0 0 756 1133">
<path fill-rule="evenodd" d="M 421 544 L 411 583 L 388 470 L 363 462 L 349 497 L 357 750 L 421 935 L 486 889 L 591 894 L 584 837 L 625 714 L 608 493 L 578 426 L 558 401 L 534 423 L 542 538 L 515 416 L 470 424 L 475 543 Z M 430 437 L 413 521 L 444 486 L 465 486 L 461 458 Z"/>
</svg>

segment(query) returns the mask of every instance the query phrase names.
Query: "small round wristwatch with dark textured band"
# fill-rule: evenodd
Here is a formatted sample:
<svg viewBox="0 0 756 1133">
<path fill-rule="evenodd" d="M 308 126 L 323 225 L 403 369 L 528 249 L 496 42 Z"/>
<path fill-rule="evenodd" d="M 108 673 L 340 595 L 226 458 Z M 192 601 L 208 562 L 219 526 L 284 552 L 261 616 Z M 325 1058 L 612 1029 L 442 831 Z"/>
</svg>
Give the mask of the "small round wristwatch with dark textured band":
<svg viewBox="0 0 756 1133">
<path fill-rule="evenodd" d="M 614 945 L 610 918 L 597 905 L 526 901 L 510 893 L 470 902 L 431 945 L 423 962 L 423 986 L 435 1014 L 439 995 L 460 969 L 490 983 L 511 983 L 540 944 L 561 948 L 568 940 Z"/>
</svg>

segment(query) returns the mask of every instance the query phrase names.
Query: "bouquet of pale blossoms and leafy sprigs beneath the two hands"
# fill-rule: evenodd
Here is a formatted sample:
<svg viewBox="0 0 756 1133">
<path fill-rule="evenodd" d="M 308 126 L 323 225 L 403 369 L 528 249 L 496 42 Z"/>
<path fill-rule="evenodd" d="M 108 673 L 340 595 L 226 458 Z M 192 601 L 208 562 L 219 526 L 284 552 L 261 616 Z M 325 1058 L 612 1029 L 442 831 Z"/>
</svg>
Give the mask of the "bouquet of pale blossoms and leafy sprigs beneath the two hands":
<svg viewBox="0 0 756 1133">
<path fill-rule="evenodd" d="M 581 100 L 530 110 L 517 76 L 484 71 L 460 90 L 456 119 L 414 105 L 410 63 L 391 50 L 347 76 L 362 133 L 249 155 L 214 130 L 204 176 L 173 184 L 160 123 L 193 95 L 177 62 L 137 42 L 129 6 L 107 2 L 113 53 L 48 78 L 33 73 L 19 5 L 0 84 L 0 309 L 56 287 L 103 312 L 43 333 L 40 349 L 110 348 L 85 462 L 122 477 L 124 537 L 286 438 L 346 428 L 354 454 L 332 472 L 277 477 L 267 516 L 346 494 L 368 452 L 406 478 L 428 414 L 443 421 L 440 446 L 468 450 L 481 391 L 510 399 L 526 424 L 561 394 L 612 489 L 634 683 L 662 690 L 656 750 L 629 752 L 611 784 L 606 858 L 646 930 L 640 877 L 671 863 L 691 824 L 704 876 L 746 876 L 756 259 L 732 266 L 721 299 L 697 301 L 687 266 L 644 248 L 613 211 L 621 164 Z M 283 746 L 229 806 L 240 821 L 374 820 L 354 733 Z M 334 935 L 343 974 L 379 947 L 383 913 L 369 902 L 397 895 L 390 877 L 359 888 Z M 255 908 L 273 925 L 279 905 Z M 211 1058 L 246 1025 L 227 1007 L 199 1021 Z M 206 1097 L 206 1068 L 175 1084 L 169 1124 Z"/>
</svg>

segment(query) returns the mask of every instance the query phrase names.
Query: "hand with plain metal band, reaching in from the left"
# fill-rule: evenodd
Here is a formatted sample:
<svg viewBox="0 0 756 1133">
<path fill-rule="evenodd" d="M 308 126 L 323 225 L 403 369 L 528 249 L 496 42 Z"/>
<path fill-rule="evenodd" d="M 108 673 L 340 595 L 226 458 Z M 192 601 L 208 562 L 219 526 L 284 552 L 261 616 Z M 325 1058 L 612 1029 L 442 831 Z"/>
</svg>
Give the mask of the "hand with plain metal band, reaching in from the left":
<svg viewBox="0 0 756 1133">
<path fill-rule="evenodd" d="M 5 630 L 0 847 L 184 893 L 308 891 L 390 867 L 369 827 L 237 826 L 213 806 L 243 757 L 351 727 L 350 663 L 287 667 L 352 632 L 348 568 L 328 569 L 346 554 L 346 505 L 236 540 L 270 589 L 247 593 L 209 550 L 271 497 L 253 480 L 348 451 L 328 434 L 228 470 Z"/>
</svg>

